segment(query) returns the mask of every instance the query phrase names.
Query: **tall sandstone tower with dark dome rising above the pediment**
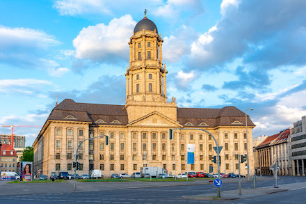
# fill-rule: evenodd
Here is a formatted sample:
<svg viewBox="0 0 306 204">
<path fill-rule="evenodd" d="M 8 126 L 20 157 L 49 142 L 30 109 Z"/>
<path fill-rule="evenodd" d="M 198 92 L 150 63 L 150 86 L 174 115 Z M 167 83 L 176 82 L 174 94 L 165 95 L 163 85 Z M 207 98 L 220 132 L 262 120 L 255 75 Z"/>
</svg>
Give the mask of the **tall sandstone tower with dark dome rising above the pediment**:
<svg viewBox="0 0 306 204">
<path fill-rule="evenodd" d="M 167 102 L 166 67 L 162 61 L 161 35 L 146 15 L 134 28 L 129 40 L 129 68 L 127 68 L 126 104 L 129 121 L 136 120 L 152 111 L 163 111 L 163 107 L 175 107 L 172 100 Z M 145 108 L 144 108 L 145 107 Z M 169 114 L 166 114 L 169 115 Z"/>
</svg>

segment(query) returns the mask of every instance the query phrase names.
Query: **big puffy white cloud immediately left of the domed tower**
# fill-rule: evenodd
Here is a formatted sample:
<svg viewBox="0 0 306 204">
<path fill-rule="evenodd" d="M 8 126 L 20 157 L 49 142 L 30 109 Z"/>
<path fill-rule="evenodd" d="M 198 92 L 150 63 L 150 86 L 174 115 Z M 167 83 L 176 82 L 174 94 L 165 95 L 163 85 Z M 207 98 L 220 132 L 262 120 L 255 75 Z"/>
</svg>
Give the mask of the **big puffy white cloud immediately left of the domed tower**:
<svg viewBox="0 0 306 204">
<path fill-rule="evenodd" d="M 136 22 L 131 15 L 114 18 L 108 25 L 97 24 L 83 28 L 73 40 L 77 58 L 92 61 L 117 61 L 129 58 L 129 37 Z"/>
</svg>

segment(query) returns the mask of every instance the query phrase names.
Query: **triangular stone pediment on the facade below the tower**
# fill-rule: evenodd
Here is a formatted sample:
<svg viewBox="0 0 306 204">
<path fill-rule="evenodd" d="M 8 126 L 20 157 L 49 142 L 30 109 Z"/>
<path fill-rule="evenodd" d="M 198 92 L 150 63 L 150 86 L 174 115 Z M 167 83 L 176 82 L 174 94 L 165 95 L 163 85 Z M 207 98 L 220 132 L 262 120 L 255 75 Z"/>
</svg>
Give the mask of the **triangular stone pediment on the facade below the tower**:
<svg viewBox="0 0 306 204">
<path fill-rule="evenodd" d="M 127 126 L 137 126 L 137 127 L 183 127 L 181 124 L 177 123 L 177 121 L 164 116 L 163 114 L 154 111 L 152 113 L 147 114 L 137 120 L 132 121 L 127 124 Z"/>
</svg>

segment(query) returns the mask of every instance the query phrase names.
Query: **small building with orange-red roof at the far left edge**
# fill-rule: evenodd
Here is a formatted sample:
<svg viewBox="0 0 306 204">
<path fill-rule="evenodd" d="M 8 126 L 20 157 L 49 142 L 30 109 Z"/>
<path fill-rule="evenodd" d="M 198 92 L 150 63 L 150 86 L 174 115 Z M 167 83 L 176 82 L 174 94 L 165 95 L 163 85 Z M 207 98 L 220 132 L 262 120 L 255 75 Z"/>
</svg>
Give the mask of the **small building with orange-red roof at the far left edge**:
<svg viewBox="0 0 306 204">
<path fill-rule="evenodd" d="M 0 171 L 17 172 L 17 154 L 9 144 L 2 144 L 0 151 Z"/>
</svg>

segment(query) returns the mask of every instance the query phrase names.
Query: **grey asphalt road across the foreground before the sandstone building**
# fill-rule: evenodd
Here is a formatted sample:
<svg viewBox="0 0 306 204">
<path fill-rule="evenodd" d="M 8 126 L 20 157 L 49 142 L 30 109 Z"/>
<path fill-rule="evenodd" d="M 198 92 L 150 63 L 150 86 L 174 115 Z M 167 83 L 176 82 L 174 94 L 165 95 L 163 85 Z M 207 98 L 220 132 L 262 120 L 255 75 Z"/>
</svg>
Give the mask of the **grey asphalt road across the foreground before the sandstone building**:
<svg viewBox="0 0 306 204">
<path fill-rule="evenodd" d="M 282 177 L 278 180 L 280 187 L 284 184 L 306 182 L 306 177 Z M 108 185 L 106 182 L 100 185 Z M 122 183 L 122 182 L 120 182 Z M 79 192 L 67 192 L 63 194 L 27 194 L 27 195 L 10 195 L 1 196 L 0 203 L 305 203 L 306 201 L 306 187 L 291 188 L 289 191 L 283 191 L 276 194 L 268 194 L 264 196 L 255 196 L 251 198 L 243 198 L 233 201 L 202 201 L 202 200 L 187 200 L 182 196 L 186 195 L 199 195 L 199 194 L 211 194 L 216 192 L 216 187 L 212 184 L 201 185 L 183 185 L 177 186 L 175 182 L 172 182 L 174 186 L 168 187 L 133 187 L 131 188 L 129 183 L 124 182 L 124 186 L 121 189 L 105 189 L 95 191 L 79 191 Z M 156 182 L 154 182 L 156 183 Z M 119 184 L 119 183 L 118 183 Z M 257 182 L 257 188 L 272 187 L 275 184 L 275 180 L 271 178 Z M 10 185 L 10 184 L 6 184 Z M 6 186 L 6 185 L 2 185 Z M 24 187 L 31 187 L 31 184 L 20 184 Z M 45 185 L 46 191 L 48 183 Z M 109 184 L 110 186 L 116 184 Z M 121 184 L 120 184 L 121 185 Z M 243 182 L 242 188 L 251 189 L 253 187 L 252 182 Z M 238 189 L 238 182 L 223 182 L 222 191 L 229 191 Z"/>
</svg>

